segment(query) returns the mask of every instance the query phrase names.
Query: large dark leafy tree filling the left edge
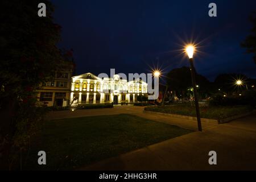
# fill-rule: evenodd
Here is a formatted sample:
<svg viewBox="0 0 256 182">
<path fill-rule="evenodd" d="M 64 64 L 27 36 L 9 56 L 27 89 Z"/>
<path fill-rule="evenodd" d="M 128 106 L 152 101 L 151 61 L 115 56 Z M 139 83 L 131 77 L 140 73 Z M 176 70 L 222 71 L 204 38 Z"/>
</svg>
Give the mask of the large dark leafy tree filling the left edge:
<svg viewBox="0 0 256 182">
<path fill-rule="evenodd" d="M 38 16 L 38 4 L 47 16 Z M 64 59 L 56 43 L 61 27 L 53 23 L 49 1 L 1 1 L 0 163 L 10 168 L 10 156 L 25 150 L 35 123 L 42 120 L 36 89 L 55 75 Z"/>
</svg>

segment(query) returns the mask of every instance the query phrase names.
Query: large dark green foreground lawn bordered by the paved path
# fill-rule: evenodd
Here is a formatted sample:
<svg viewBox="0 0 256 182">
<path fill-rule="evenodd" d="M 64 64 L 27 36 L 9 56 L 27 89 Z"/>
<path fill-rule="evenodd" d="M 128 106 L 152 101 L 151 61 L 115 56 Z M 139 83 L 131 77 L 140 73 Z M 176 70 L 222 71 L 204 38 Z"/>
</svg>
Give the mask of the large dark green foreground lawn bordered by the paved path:
<svg viewBox="0 0 256 182">
<path fill-rule="evenodd" d="M 34 138 L 24 169 L 75 169 L 150 144 L 191 133 L 130 114 L 47 121 Z M 38 165 L 38 151 L 47 165 Z"/>
</svg>

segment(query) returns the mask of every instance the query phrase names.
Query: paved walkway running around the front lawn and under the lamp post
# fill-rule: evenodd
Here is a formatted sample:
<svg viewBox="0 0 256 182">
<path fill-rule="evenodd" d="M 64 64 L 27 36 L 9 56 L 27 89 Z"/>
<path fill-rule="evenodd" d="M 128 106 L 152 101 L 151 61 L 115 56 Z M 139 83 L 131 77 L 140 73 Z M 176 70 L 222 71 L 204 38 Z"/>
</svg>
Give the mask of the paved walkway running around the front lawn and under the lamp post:
<svg viewBox="0 0 256 182">
<path fill-rule="evenodd" d="M 60 112 L 60 113 L 58 113 Z M 197 129 L 196 121 L 143 113 L 143 107 L 115 106 L 113 109 L 58 111 L 48 118 L 82 117 L 129 113 L 187 129 Z M 58 113 L 58 114 L 57 114 Z M 106 159 L 82 170 L 250 170 L 256 169 L 256 113 L 217 125 L 203 122 L 203 132 L 181 137 Z M 210 166 L 208 152 L 217 152 L 217 165 Z"/>
</svg>

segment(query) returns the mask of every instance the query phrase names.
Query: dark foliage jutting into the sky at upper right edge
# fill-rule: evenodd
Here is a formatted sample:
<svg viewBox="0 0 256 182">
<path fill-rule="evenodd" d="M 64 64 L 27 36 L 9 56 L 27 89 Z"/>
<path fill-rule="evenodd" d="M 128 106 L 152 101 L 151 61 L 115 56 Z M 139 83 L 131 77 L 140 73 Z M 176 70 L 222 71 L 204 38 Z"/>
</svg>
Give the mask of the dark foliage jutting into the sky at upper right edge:
<svg viewBox="0 0 256 182">
<path fill-rule="evenodd" d="M 246 37 L 241 46 L 247 48 L 247 53 L 254 53 L 253 60 L 256 64 L 256 11 L 249 16 L 249 20 L 253 23 L 253 28 L 251 29 L 251 34 Z"/>
</svg>

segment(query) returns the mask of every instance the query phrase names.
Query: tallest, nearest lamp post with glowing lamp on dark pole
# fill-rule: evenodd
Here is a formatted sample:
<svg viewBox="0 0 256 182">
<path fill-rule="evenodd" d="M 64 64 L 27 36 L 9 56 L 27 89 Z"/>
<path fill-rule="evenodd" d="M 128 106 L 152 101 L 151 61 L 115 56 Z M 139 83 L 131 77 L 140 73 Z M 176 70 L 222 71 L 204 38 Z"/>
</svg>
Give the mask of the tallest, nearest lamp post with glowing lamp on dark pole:
<svg viewBox="0 0 256 182">
<path fill-rule="evenodd" d="M 196 70 L 195 70 L 195 67 L 194 67 L 194 64 L 193 64 L 194 49 L 195 48 L 192 45 L 189 45 L 189 46 L 186 47 L 186 52 L 187 52 L 189 62 L 190 62 L 190 65 L 191 65 L 191 77 L 192 77 L 193 91 L 194 91 L 194 95 L 195 95 L 197 126 L 198 126 L 198 130 L 202 131 L 199 104 L 198 104 L 198 97 L 197 97 L 197 92 L 196 92 L 196 75 L 195 75 Z"/>
</svg>

